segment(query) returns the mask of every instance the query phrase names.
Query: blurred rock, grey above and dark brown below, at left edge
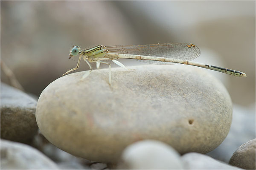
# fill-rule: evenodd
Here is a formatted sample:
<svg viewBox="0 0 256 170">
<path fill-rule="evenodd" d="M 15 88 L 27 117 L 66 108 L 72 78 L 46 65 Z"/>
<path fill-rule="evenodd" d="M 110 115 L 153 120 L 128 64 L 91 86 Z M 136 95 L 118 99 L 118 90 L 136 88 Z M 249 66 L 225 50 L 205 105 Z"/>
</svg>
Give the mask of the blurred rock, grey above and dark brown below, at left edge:
<svg viewBox="0 0 256 170">
<path fill-rule="evenodd" d="M 1 138 L 30 143 L 38 130 L 36 104 L 29 95 L 1 82 Z"/>
</svg>

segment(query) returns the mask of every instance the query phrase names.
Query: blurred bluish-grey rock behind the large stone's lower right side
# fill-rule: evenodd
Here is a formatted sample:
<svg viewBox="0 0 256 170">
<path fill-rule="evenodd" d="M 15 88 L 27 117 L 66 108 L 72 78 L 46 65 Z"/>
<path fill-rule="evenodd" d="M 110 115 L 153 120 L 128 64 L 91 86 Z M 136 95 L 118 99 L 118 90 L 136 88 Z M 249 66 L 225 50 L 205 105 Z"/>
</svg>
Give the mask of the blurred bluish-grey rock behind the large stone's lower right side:
<svg viewBox="0 0 256 170">
<path fill-rule="evenodd" d="M 255 133 L 255 105 L 247 108 L 233 105 L 232 124 L 226 139 L 207 155 L 228 163 L 236 149 L 255 138 Z"/>
</svg>

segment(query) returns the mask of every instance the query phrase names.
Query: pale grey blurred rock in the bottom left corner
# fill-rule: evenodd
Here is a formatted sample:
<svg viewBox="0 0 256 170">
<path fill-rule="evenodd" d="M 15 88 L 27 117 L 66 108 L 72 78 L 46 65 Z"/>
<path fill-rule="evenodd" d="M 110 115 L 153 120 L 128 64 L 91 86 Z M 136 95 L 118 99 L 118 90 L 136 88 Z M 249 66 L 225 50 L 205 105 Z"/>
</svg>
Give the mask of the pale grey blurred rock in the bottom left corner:
<svg viewBox="0 0 256 170">
<path fill-rule="evenodd" d="M 1 139 L 1 169 L 59 169 L 33 147 Z"/>
</svg>

